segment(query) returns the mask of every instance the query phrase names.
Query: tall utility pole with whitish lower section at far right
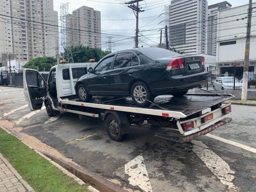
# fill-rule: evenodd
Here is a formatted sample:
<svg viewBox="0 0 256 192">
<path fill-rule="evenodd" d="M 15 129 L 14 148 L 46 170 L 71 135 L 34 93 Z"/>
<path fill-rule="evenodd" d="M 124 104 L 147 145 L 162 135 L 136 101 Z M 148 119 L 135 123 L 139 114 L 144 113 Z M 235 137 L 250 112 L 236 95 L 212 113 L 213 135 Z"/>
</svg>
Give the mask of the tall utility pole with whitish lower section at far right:
<svg viewBox="0 0 256 192">
<path fill-rule="evenodd" d="M 249 0 L 248 16 L 247 16 L 247 30 L 244 51 L 244 72 L 241 100 L 247 100 L 247 86 L 248 86 L 248 70 L 249 70 L 249 55 L 250 55 L 250 38 L 251 38 L 251 21 L 252 21 L 252 0 Z"/>
</svg>

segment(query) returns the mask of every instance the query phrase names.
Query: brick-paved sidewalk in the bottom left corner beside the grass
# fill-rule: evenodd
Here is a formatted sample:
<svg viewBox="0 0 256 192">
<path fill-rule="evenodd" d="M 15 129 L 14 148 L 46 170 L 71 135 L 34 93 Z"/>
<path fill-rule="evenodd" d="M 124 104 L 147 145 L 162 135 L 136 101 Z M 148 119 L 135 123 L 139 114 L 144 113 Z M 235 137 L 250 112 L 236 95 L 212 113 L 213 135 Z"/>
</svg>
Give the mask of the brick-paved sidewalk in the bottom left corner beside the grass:
<svg viewBox="0 0 256 192">
<path fill-rule="evenodd" d="M 0 192 L 34 192 L 0 153 Z"/>
</svg>

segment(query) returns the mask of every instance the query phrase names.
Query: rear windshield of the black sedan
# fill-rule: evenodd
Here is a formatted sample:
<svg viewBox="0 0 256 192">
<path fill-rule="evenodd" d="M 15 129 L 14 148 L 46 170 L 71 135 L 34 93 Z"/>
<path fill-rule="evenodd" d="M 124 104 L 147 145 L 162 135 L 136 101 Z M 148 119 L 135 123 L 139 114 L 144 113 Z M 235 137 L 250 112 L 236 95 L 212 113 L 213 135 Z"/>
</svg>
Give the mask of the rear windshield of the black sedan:
<svg viewBox="0 0 256 192">
<path fill-rule="evenodd" d="M 153 59 L 160 59 L 165 57 L 180 57 L 182 56 L 179 53 L 163 49 L 163 48 L 144 48 L 139 50 L 141 53 L 146 54 Z"/>
</svg>

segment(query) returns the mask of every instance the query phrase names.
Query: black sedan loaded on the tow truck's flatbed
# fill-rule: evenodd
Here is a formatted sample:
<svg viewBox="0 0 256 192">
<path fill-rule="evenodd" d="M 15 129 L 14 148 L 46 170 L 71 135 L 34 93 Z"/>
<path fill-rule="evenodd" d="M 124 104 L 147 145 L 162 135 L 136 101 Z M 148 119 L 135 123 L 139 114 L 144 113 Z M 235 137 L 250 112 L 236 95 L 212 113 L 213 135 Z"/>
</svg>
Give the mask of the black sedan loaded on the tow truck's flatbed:
<svg viewBox="0 0 256 192">
<path fill-rule="evenodd" d="M 137 106 L 148 106 L 158 95 L 181 97 L 207 83 L 204 57 L 183 56 L 163 48 L 134 48 L 103 57 L 75 85 L 81 101 L 93 95 L 131 96 Z"/>
</svg>

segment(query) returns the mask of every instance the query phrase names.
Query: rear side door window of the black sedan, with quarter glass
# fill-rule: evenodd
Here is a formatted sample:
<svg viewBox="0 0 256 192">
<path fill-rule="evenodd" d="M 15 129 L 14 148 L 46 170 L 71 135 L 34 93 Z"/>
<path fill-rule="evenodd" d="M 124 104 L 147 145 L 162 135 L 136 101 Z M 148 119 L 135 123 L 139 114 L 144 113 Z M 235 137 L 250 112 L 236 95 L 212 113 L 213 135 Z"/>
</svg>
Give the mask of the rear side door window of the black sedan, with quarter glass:
<svg viewBox="0 0 256 192">
<path fill-rule="evenodd" d="M 136 66 L 138 63 L 138 57 L 133 53 L 118 53 L 114 62 L 113 69 Z"/>
</svg>

